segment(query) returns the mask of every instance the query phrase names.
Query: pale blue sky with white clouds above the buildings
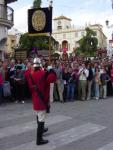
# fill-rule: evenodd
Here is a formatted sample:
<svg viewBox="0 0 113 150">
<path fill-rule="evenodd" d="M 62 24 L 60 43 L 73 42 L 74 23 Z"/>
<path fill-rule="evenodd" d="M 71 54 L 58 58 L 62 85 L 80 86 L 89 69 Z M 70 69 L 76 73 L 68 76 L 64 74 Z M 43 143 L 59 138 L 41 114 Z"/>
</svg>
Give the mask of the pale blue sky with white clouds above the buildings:
<svg viewBox="0 0 113 150">
<path fill-rule="evenodd" d="M 72 25 L 102 24 L 103 31 L 110 38 L 113 27 L 107 28 L 105 21 L 113 24 L 112 0 L 53 0 L 53 18 L 64 15 L 72 19 Z M 14 9 L 14 27 L 27 32 L 27 10 L 33 0 L 18 0 L 9 6 Z M 48 7 L 49 0 L 42 0 L 42 7 Z"/>
</svg>

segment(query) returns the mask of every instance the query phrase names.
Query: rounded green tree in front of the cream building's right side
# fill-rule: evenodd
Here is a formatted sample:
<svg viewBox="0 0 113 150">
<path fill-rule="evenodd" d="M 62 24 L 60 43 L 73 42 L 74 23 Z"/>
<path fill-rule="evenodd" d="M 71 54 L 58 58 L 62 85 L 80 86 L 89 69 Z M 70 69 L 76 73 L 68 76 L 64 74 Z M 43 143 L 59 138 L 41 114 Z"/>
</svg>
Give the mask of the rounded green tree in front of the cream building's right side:
<svg viewBox="0 0 113 150">
<path fill-rule="evenodd" d="M 78 51 L 85 56 L 95 56 L 98 45 L 98 39 L 95 37 L 95 31 L 90 28 L 86 28 L 85 30 L 86 36 L 78 41 L 80 45 Z"/>
</svg>

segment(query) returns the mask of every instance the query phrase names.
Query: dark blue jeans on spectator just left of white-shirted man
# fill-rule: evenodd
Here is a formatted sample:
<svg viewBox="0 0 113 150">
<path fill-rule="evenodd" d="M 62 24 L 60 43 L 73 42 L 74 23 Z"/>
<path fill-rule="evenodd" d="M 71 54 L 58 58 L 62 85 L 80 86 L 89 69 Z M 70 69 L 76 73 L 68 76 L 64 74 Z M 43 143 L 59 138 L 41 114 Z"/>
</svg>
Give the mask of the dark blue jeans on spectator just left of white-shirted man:
<svg viewBox="0 0 113 150">
<path fill-rule="evenodd" d="M 68 83 L 67 85 L 67 100 L 74 100 L 75 96 L 75 83 Z"/>
</svg>

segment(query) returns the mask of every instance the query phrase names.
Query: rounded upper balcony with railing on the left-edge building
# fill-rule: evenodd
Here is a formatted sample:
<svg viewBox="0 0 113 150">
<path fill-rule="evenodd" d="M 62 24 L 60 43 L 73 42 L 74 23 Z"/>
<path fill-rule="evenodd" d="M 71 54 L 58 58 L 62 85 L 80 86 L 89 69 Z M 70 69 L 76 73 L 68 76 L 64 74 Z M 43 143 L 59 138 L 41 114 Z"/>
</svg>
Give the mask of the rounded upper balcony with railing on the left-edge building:
<svg viewBox="0 0 113 150">
<path fill-rule="evenodd" d="M 9 7 L 0 4 L 0 25 L 3 25 L 10 29 L 13 26 L 14 10 Z"/>
</svg>

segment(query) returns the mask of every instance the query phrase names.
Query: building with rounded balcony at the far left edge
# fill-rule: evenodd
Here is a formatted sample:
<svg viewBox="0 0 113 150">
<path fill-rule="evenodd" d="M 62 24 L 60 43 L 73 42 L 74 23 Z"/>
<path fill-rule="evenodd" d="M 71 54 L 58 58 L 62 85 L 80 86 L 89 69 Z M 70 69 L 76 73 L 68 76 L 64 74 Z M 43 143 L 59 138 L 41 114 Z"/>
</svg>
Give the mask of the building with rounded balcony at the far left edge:
<svg viewBox="0 0 113 150">
<path fill-rule="evenodd" d="M 0 0 L 0 59 L 4 59 L 4 53 L 7 49 L 8 29 L 13 26 L 14 10 L 8 6 L 9 3 L 17 0 Z"/>
</svg>

